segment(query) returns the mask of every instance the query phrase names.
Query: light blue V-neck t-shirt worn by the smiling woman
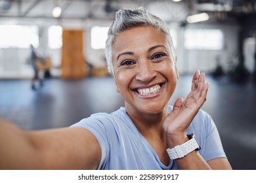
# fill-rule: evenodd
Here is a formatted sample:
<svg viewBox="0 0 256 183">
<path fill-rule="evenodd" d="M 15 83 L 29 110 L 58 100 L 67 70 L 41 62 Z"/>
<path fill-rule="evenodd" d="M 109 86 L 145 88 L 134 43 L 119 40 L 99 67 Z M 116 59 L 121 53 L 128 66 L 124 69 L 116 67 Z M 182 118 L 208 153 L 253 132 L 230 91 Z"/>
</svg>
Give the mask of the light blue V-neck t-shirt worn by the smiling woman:
<svg viewBox="0 0 256 183">
<path fill-rule="evenodd" d="M 169 106 L 169 112 L 171 107 Z M 107 113 L 96 113 L 72 125 L 85 127 L 98 140 L 101 148 L 101 160 L 98 169 L 178 169 L 175 161 L 170 160 L 168 166 L 163 165 L 150 144 L 135 127 L 125 108 Z M 200 110 L 187 133 L 194 133 L 201 150 L 199 153 L 208 161 L 226 155 L 221 139 L 211 116 Z"/>
</svg>

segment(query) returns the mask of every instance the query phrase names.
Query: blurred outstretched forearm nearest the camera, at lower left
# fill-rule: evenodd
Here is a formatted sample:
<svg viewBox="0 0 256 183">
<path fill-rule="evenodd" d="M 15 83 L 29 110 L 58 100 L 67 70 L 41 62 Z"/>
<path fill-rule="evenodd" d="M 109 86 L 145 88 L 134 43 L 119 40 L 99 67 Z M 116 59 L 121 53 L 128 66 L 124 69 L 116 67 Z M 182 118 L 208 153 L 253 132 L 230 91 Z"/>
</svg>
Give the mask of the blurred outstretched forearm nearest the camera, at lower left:
<svg viewBox="0 0 256 183">
<path fill-rule="evenodd" d="M 26 131 L 0 120 L 0 169 L 30 169 L 35 156 Z"/>
</svg>

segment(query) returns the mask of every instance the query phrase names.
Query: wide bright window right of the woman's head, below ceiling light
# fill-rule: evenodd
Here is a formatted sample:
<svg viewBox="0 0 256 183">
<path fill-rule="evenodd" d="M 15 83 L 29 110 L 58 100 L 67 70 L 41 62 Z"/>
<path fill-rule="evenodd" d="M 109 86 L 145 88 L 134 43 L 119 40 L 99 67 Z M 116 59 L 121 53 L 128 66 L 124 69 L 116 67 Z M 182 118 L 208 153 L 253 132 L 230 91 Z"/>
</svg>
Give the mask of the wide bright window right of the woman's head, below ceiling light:
<svg viewBox="0 0 256 183">
<path fill-rule="evenodd" d="M 186 29 L 184 46 L 187 50 L 221 50 L 224 35 L 220 29 Z"/>
</svg>

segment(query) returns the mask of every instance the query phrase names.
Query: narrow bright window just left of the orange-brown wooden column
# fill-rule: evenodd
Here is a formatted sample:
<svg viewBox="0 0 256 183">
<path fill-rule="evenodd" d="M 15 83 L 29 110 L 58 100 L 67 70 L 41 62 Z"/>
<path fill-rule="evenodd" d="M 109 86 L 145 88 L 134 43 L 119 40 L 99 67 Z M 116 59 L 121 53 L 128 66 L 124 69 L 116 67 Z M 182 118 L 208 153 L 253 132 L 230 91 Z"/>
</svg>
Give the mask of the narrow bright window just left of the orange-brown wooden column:
<svg viewBox="0 0 256 183">
<path fill-rule="evenodd" d="M 52 25 L 48 28 L 48 46 L 51 49 L 62 47 L 62 27 L 60 25 Z"/>
</svg>

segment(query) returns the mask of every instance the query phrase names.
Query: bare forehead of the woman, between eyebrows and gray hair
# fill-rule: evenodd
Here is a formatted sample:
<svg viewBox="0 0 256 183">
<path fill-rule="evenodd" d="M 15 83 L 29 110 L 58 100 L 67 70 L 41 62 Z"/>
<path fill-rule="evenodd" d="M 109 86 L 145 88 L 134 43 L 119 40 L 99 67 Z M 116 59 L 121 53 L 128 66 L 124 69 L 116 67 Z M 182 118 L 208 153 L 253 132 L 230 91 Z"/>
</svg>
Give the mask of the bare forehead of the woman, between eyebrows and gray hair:
<svg viewBox="0 0 256 183">
<path fill-rule="evenodd" d="M 140 26 L 126 29 L 117 35 L 113 44 L 113 54 L 137 51 L 167 42 L 165 35 L 156 27 Z"/>
</svg>

